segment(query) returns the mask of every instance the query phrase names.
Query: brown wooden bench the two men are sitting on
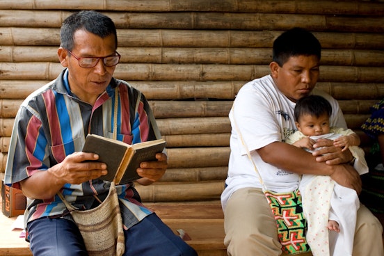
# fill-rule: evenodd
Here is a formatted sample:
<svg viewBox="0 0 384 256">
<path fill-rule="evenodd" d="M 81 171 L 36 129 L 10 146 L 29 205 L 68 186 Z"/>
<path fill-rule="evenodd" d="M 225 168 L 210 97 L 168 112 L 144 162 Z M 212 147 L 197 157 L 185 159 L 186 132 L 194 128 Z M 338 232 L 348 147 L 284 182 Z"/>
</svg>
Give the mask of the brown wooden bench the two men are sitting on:
<svg viewBox="0 0 384 256">
<path fill-rule="evenodd" d="M 191 239 L 186 242 L 195 248 L 199 256 L 227 255 L 223 243 L 223 211 L 219 201 L 145 205 L 154 210 L 175 234 L 179 234 L 177 230 L 184 230 Z M 15 219 L 0 214 L 0 255 L 30 256 L 29 243 L 19 237 L 21 230 L 11 230 Z"/>
</svg>

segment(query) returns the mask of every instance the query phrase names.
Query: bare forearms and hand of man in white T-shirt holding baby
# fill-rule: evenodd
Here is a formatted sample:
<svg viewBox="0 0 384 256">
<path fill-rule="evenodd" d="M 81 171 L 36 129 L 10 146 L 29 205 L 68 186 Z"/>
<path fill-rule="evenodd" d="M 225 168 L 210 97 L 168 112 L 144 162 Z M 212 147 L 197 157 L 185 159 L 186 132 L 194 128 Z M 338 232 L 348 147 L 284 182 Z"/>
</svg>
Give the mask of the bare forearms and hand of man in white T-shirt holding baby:
<svg viewBox="0 0 384 256">
<path fill-rule="evenodd" d="M 330 142 L 332 143 L 332 141 Z M 360 193 L 360 175 L 358 175 L 358 172 L 356 172 L 352 166 L 349 164 L 329 164 L 326 162 L 349 162 L 352 159 L 351 152 L 346 150 L 344 153 L 339 147 L 328 147 L 321 150 L 328 152 L 330 156 L 327 154 L 327 157 L 325 157 L 319 154 L 320 157 L 315 158 L 312 154 L 305 152 L 305 150 L 282 142 L 271 143 L 260 148 L 257 152 L 263 161 L 278 168 L 298 174 L 328 175 L 338 184 L 355 189 L 355 191 Z M 298 160 L 293 161 L 292 159 Z"/>
</svg>

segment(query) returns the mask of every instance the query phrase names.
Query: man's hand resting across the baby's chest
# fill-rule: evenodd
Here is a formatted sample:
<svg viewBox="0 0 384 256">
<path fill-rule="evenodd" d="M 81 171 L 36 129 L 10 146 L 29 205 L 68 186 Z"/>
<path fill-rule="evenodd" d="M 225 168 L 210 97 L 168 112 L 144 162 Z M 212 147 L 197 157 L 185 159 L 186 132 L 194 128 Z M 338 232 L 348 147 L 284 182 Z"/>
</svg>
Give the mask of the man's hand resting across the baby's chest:
<svg viewBox="0 0 384 256">
<path fill-rule="evenodd" d="M 335 147 L 333 145 L 333 141 L 328 139 L 317 140 L 313 147 L 321 147 L 319 150 L 312 153 L 318 162 L 325 162 L 329 165 L 336 165 L 340 163 L 349 163 L 353 159 L 353 156 L 349 150 L 342 151 L 341 147 Z"/>
</svg>

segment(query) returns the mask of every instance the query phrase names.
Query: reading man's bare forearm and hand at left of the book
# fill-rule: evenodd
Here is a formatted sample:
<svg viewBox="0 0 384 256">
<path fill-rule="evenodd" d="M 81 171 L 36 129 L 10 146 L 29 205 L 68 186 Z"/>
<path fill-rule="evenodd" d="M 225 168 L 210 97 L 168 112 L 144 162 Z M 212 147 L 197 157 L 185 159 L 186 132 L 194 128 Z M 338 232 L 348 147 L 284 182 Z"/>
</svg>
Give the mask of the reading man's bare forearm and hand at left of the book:
<svg viewBox="0 0 384 256">
<path fill-rule="evenodd" d="M 97 179 L 107 173 L 105 163 L 89 161 L 97 159 L 97 154 L 74 152 L 61 163 L 24 179 L 20 182 L 22 191 L 28 198 L 48 199 L 54 197 L 66 183 L 81 184 Z"/>
</svg>

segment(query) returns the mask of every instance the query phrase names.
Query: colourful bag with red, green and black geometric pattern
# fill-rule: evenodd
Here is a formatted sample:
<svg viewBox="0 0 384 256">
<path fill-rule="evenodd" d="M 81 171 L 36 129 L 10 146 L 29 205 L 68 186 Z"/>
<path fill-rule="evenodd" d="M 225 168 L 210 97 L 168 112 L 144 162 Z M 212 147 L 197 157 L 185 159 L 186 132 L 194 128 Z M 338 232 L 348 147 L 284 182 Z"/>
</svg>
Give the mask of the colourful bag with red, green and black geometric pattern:
<svg viewBox="0 0 384 256">
<path fill-rule="evenodd" d="M 303 216 L 300 191 L 298 189 L 287 193 L 264 191 L 264 194 L 275 216 L 283 254 L 310 252 L 310 246 L 305 239 L 307 221 Z"/>
</svg>

